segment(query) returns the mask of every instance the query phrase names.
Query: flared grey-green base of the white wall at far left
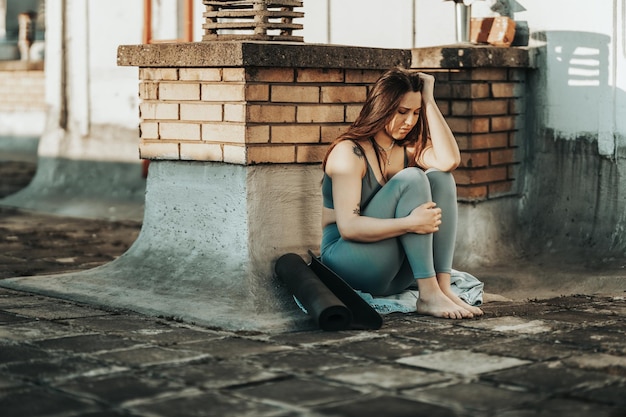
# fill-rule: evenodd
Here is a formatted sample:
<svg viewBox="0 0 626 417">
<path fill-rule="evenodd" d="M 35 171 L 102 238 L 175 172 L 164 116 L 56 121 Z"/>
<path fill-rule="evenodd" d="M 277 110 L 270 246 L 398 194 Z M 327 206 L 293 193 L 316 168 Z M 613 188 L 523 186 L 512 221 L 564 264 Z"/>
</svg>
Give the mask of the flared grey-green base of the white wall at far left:
<svg viewBox="0 0 626 417">
<path fill-rule="evenodd" d="M 62 216 L 141 221 L 146 179 L 136 131 L 92 126 L 88 136 L 51 128 L 39 140 L 30 184 L 4 206 Z"/>
</svg>

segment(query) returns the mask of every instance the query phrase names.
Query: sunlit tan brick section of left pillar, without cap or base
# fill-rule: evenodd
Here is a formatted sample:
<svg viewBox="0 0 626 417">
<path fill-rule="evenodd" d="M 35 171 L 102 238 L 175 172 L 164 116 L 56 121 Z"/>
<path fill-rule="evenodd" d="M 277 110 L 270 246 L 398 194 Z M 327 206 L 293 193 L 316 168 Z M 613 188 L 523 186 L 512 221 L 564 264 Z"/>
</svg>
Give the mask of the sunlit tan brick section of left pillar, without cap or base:
<svg viewBox="0 0 626 417">
<path fill-rule="evenodd" d="M 318 163 L 382 71 L 142 68 L 144 159 Z"/>
</svg>

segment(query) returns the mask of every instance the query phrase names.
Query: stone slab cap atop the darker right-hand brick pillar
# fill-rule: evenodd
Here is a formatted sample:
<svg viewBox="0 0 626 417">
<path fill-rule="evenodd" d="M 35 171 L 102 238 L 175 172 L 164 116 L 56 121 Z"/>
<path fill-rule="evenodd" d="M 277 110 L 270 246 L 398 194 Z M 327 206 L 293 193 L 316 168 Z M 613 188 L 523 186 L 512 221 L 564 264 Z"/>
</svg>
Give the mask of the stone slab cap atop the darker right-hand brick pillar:
<svg viewBox="0 0 626 417">
<path fill-rule="evenodd" d="M 411 68 L 536 68 L 536 48 L 448 45 L 412 50 Z"/>
</svg>

